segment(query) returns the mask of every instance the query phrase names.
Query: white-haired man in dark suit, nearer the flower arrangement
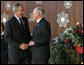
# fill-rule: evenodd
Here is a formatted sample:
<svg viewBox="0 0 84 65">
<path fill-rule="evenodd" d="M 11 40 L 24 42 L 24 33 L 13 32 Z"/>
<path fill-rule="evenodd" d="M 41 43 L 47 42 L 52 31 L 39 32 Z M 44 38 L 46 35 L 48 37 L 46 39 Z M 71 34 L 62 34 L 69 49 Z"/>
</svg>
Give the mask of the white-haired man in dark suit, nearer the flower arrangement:
<svg viewBox="0 0 84 65">
<path fill-rule="evenodd" d="M 32 50 L 34 64 L 48 64 L 50 57 L 50 24 L 44 18 L 45 12 L 37 7 L 33 10 L 33 18 L 37 22 L 34 27 L 32 41 L 29 43 Z"/>
</svg>

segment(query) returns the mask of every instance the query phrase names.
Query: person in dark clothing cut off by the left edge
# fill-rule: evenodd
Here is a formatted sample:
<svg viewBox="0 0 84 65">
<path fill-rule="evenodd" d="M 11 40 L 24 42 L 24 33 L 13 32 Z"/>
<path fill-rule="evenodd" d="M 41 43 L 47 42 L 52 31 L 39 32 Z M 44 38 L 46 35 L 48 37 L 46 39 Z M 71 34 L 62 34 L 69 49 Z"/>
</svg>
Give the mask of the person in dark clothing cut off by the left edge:
<svg viewBox="0 0 84 65">
<path fill-rule="evenodd" d="M 1 23 L 1 64 L 8 64 L 8 43 L 4 39 L 4 24 Z"/>
</svg>

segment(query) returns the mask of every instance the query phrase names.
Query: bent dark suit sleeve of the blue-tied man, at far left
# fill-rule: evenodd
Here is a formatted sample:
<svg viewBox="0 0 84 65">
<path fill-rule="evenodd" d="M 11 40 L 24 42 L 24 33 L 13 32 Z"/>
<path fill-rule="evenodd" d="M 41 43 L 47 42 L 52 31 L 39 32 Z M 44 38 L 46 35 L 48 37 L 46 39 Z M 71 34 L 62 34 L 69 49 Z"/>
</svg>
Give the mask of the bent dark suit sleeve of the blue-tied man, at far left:
<svg viewBox="0 0 84 65">
<path fill-rule="evenodd" d="M 13 31 L 10 22 L 6 22 L 5 24 L 5 40 L 8 43 L 13 44 L 14 46 L 19 47 L 20 43 L 13 39 Z"/>
</svg>

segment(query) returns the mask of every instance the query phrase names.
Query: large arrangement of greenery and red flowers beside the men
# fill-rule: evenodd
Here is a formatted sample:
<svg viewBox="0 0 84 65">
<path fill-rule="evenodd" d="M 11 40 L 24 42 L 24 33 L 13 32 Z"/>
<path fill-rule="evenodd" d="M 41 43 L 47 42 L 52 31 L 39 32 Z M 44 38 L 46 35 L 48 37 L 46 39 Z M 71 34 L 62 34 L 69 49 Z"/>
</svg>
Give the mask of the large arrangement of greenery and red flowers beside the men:
<svg viewBox="0 0 84 65">
<path fill-rule="evenodd" d="M 83 24 L 77 23 L 67 28 L 59 37 L 53 38 L 52 43 L 50 47 L 52 64 L 76 63 L 76 54 L 83 55 Z M 79 60 L 81 59 L 82 57 Z"/>
</svg>

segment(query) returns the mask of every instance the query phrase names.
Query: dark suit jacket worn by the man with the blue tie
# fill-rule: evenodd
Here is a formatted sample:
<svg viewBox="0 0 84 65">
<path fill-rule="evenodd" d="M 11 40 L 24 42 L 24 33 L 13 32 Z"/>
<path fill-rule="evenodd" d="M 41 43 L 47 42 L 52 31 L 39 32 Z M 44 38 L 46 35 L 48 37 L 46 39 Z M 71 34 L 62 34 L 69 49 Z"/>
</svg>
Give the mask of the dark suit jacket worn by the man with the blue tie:
<svg viewBox="0 0 84 65">
<path fill-rule="evenodd" d="M 31 35 L 27 18 L 22 17 L 22 19 L 25 25 L 25 30 L 22 30 L 21 25 L 15 16 L 5 24 L 5 40 L 8 42 L 9 58 L 11 55 L 16 56 L 17 58 L 24 58 L 26 56 L 26 50 L 22 51 L 19 48 L 19 45 L 23 42 L 29 43 Z M 29 48 L 27 50 L 29 52 Z"/>
</svg>

